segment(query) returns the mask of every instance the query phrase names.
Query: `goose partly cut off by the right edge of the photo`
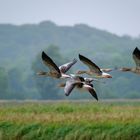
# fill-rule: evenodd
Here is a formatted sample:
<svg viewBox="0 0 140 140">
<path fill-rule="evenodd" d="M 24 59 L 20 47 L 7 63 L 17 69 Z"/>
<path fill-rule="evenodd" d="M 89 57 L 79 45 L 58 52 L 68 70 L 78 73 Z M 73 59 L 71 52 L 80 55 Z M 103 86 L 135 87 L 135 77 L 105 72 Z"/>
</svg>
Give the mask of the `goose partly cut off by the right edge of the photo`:
<svg viewBox="0 0 140 140">
<path fill-rule="evenodd" d="M 136 73 L 136 74 L 140 74 L 140 50 L 136 47 L 132 53 L 132 57 L 133 57 L 133 60 L 136 64 L 136 67 L 133 67 L 133 68 L 126 68 L 126 67 L 123 67 L 123 68 L 120 68 L 119 70 L 121 71 L 130 71 L 130 72 L 133 72 L 133 73 Z"/>
</svg>

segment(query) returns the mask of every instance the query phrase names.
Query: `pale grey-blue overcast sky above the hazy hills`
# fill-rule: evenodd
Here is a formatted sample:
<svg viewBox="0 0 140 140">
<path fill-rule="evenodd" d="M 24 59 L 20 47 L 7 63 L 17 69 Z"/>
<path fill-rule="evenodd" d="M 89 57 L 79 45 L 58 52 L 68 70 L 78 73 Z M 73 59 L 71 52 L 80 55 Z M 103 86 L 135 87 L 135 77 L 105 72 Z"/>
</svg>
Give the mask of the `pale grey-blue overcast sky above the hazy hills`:
<svg viewBox="0 0 140 140">
<path fill-rule="evenodd" d="M 140 0 L 0 0 L 0 24 L 50 20 L 87 24 L 117 35 L 140 35 Z"/>
</svg>

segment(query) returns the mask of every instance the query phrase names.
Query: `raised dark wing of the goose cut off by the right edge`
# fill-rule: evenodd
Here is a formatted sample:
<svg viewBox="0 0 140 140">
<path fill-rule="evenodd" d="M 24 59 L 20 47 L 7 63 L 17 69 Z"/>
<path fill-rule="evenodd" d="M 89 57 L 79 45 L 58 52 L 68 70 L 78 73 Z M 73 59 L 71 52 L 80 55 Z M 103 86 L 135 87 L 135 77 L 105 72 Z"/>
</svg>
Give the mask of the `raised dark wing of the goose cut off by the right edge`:
<svg viewBox="0 0 140 140">
<path fill-rule="evenodd" d="M 140 50 L 137 47 L 133 51 L 133 59 L 136 63 L 136 67 L 140 68 Z"/>
</svg>

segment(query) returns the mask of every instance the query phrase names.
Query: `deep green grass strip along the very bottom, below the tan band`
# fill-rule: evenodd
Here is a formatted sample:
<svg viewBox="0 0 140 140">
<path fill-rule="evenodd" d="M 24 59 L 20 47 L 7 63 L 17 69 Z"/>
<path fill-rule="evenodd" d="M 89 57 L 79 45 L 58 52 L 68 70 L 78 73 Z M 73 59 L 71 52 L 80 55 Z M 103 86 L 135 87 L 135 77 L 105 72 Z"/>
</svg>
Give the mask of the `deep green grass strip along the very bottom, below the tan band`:
<svg viewBox="0 0 140 140">
<path fill-rule="evenodd" d="M 0 123 L 2 140 L 135 140 L 140 139 L 140 124 L 14 124 Z"/>
</svg>

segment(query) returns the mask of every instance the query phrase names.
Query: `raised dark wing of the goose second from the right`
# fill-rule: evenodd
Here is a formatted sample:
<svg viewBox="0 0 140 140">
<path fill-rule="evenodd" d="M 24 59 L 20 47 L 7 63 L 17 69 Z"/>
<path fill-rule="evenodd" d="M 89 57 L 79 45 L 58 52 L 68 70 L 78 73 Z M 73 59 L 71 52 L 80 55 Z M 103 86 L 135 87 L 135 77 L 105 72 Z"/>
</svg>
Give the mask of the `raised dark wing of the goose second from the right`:
<svg viewBox="0 0 140 140">
<path fill-rule="evenodd" d="M 87 65 L 89 67 L 89 69 L 92 70 L 93 72 L 98 73 L 98 74 L 101 74 L 102 73 L 102 71 L 100 70 L 100 68 L 95 63 L 93 63 L 91 60 L 89 60 L 88 58 L 86 58 L 85 56 L 79 54 L 79 59 L 85 65 Z"/>
</svg>

